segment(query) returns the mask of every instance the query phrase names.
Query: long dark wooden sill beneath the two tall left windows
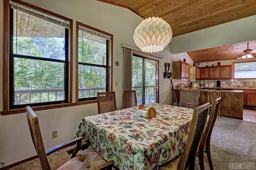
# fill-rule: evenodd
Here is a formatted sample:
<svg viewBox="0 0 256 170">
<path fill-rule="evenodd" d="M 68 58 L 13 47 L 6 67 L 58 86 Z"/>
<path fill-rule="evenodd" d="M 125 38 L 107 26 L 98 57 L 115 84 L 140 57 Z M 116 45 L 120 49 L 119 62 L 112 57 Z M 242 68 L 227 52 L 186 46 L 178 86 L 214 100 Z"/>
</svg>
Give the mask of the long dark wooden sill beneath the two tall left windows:
<svg viewBox="0 0 256 170">
<path fill-rule="evenodd" d="M 82 101 L 82 102 L 75 102 L 75 103 L 66 103 L 66 104 L 55 104 L 55 105 L 47 105 L 47 106 L 36 106 L 32 107 L 34 111 L 38 110 L 46 110 L 46 109 L 54 109 L 54 108 L 60 108 L 60 107 L 70 107 L 70 106 L 78 106 L 82 104 L 92 104 L 92 103 L 97 103 L 97 100 L 90 100 L 90 101 Z M 26 108 L 22 109 L 11 109 L 11 110 L 6 110 L 6 111 L 1 111 L 1 115 L 12 115 L 12 114 L 17 114 L 17 113 L 25 113 Z"/>
</svg>

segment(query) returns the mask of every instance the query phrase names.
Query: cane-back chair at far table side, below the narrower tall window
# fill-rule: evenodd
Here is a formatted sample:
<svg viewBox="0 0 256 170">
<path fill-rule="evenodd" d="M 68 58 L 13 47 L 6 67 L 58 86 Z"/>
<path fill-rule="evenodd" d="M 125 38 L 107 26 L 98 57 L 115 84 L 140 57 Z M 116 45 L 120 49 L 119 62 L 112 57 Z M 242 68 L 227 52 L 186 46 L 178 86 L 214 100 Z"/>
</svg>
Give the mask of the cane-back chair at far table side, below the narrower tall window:
<svg viewBox="0 0 256 170">
<path fill-rule="evenodd" d="M 117 110 L 115 92 L 98 92 L 97 102 L 98 114 Z"/>
</svg>

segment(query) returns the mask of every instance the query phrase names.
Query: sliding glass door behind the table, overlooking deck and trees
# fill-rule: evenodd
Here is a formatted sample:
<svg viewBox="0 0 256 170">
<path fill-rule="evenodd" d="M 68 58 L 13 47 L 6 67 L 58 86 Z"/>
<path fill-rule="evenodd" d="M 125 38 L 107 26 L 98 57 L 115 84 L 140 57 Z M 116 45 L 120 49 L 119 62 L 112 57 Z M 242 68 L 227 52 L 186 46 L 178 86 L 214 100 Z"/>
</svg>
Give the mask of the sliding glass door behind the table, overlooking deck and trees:
<svg viewBox="0 0 256 170">
<path fill-rule="evenodd" d="M 158 61 L 138 55 L 132 57 L 132 90 L 136 90 L 137 102 L 158 102 Z"/>
</svg>

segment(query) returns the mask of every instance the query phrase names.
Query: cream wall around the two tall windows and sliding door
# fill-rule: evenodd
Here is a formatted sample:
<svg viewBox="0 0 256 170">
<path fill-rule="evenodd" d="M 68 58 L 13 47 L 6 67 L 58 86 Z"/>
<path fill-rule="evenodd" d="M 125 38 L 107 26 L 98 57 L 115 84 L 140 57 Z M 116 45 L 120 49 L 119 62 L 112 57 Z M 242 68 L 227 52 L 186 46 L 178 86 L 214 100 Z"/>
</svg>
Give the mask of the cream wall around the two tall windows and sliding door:
<svg viewBox="0 0 256 170">
<path fill-rule="evenodd" d="M 40 8 L 55 12 L 73 20 L 73 101 L 75 100 L 75 63 L 76 63 L 76 21 L 85 23 L 102 31 L 113 34 L 113 60 L 120 66 L 113 66 L 113 87 L 116 92 L 118 109 L 122 108 L 123 49 L 121 43 L 136 46 L 133 33 L 142 18 L 118 6 L 96 0 L 24 0 Z M 4 62 L 4 0 L 0 0 L 0 77 L 3 77 Z M 164 59 L 159 61 L 160 103 L 170 104 L 170 79 L 163 78 L 164 63 L 170 63 L 172 54 L 168 47 L 159 53 Z M 170 68 L 171 70 L 172 68 Z M 0 78 L 0 111 L 3 110 L 3 78 Z M 39 117 L 45 148 L 48 149 L 73 138 L 82 117 L 97 114 L 97 104 L 64 107 L 36 111 Z M 52 139 L 52 131 L 58 131 L 58 138 Z M 29 133 L 25 113 L 0 115 L 0 162 L 13 164 L 36 155 Z"/>
</svg>

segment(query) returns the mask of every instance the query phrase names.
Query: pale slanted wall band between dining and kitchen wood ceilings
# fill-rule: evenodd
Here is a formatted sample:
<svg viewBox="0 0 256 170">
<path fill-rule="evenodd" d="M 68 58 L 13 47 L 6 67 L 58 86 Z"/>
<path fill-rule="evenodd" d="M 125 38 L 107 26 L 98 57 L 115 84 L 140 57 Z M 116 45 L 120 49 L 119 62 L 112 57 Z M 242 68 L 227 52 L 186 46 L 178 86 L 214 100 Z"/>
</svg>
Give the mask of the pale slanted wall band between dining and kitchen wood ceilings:
<svg viewBox="0 0 256 170">
<path fill-rule="evenodd" d="M 184 53 L 256 39 L 256 15 L 172 38 L 171 53 Z"/>
</svg>

